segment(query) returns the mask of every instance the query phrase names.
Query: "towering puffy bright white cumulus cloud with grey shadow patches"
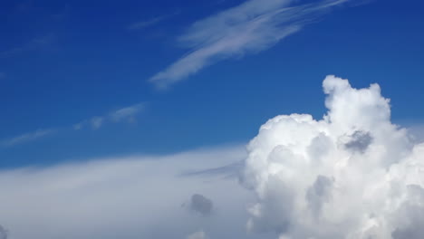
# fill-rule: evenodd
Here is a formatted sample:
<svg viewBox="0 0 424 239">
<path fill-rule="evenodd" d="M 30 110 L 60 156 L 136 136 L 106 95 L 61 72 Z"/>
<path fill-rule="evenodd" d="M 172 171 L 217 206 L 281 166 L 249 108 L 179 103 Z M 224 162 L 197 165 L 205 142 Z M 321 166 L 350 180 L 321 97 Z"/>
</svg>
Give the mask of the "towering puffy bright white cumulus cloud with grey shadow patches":
<svg viewBox="0 0 424 239">
<path fill-rule="evenodd" d="M 424 144 L 390 122 L 380 86 L 323 81 L 327 114 L 269 119 L 248 145 L 244 184 L 255 191 L 248 229 L 280 239 L 424 234 Z"/>
</svg>

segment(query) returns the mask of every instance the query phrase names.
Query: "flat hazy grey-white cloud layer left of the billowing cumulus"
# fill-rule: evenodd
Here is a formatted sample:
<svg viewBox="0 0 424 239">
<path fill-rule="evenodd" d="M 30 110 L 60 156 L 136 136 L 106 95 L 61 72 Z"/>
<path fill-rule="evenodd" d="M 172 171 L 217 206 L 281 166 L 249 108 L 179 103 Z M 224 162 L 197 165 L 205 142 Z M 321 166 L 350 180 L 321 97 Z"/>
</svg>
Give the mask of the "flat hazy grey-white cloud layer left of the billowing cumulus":
<svg viewBox="0 0 424 239">
<path fill-rule="evenodd" d="M 246 235 L 253 195 L 236 178 L 182 174 L 243 158 L 245 148 L 236 146 L 3 170 L 0 224 L 10 239 L 184 239 L 199 229 L 190 238 L 262 239 Z M 195 193 L 213 198 L 213 214 L 181 207 Z M 208 200 L 196 196 L 193 206 L 210 213 Z"/>
</svg>

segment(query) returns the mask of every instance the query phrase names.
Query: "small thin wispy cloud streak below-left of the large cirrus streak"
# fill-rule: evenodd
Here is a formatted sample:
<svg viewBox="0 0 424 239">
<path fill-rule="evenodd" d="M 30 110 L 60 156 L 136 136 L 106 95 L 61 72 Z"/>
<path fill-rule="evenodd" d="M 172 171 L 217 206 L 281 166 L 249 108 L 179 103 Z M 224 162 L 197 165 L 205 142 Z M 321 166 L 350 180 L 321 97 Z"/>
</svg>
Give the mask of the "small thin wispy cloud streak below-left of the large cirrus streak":
<svg viewBox="0 0 424 239">
<path fill-rule="evenodd" d="M 80 123 L 73 125 L 73 129 L 82 129 L 85 126 L 90 126 L 92 129 L 100 129 L 106 122 L 134 122 L 137 115 L 144 110 L 146 103 L 138 103 L 119 110 L 111 111 L 111 113 L 104 116 L 95 116 L 91 119 L 82 120 Z"/>
</svg>

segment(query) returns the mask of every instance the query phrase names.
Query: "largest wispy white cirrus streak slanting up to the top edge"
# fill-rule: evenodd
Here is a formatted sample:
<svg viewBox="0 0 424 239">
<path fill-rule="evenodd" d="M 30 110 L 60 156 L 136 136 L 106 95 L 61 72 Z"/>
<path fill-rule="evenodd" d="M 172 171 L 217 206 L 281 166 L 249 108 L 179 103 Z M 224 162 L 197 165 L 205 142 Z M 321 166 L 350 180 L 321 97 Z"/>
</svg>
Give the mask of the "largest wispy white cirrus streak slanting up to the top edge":
<svg viewBox="0 0 424 239">
<path fill-rule="evenodd" d="M 248 0 L 192 24 L 178 37 L 188 54 L 149 81 L 167 87 L 207 65 L 272 47 L 305 24 L 349 0 L 321 0 L 294 5 L 294 0 Z"/>
</svg>

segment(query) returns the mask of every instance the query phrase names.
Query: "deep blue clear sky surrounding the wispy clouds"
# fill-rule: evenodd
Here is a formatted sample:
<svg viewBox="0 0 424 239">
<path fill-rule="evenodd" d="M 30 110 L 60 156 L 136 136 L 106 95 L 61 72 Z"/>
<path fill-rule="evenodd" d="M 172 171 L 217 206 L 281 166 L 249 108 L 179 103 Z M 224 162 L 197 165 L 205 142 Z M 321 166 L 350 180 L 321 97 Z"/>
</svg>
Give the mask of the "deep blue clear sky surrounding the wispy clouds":
<svg viewBox="0 0 424 239">
<path fill-rule="evenodd" d="M 188 53 L 177 39 L 190 24 L 242 2 L 2 1 L 0 141 L 52 133 L 4 145 L 0 167 L 244 143 L 278 114 L 321 118 L 328 74 L 356 88 L 378 82 L 394 122 L 424 122 L 421 0 L 343 5 L 166 91 L 148 81 Z M 135 120 L 72 127 L 140 102 Z"/>
</svg>

